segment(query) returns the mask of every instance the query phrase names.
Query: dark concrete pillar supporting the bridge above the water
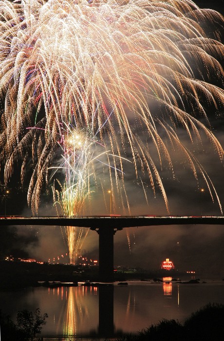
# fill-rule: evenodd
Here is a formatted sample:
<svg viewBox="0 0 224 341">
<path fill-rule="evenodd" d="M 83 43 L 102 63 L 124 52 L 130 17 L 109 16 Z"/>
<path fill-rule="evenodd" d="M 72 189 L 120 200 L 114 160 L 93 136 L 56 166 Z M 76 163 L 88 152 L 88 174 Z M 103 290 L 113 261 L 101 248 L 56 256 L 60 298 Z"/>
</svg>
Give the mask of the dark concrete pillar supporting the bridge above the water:
<svg viewBox="0 0 224 341">
<path fill-rule="evenodd" d="M 113 227 L 99 227 L 99 280 L 113 281 Z"/>
</svg>

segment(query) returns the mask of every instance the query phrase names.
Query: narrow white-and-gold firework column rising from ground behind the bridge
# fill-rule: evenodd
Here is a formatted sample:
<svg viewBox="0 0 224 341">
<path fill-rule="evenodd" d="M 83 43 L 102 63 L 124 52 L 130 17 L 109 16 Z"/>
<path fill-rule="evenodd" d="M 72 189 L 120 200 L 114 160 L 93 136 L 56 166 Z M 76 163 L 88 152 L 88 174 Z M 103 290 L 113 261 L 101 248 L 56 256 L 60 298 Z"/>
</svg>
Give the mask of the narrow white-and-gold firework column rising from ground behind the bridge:
<svg viewBox="0 0 224 341">
<path fill-rule="evenodd" d="M 61 139 L 63 144 L 61 145 L 63 151 L 63 163 L 56 167 L 56 170 L 65 169 L 66 179 L 62 186 L 59 181 L 60 189 L 56 189 L 53 186 L 53 197 L 56 205 L 57 214 L 57 204 L 60 206 L 60 212 L 68 217 L 77 216 L 80 214 L 84 204 L 85 198 L 90 194 L 89 180 L 91 174 L 89 174 L 90 168 L 87 164 L 91 160 L 90 155 L 90 143 L 84 136 L 84 132 L 77 131 L 75 129 L 70 129 L 69 126 L 66 127 L 66 135 Z M 72 128 L 72 127 L 71 127 Z M 78 155 L 78 151 L 80 151 Z M 70 263 L 74 264 L 74 251 L 79 249 L 87 236 L 85 233 L 82 240 L 82 227 L 65 227 Z M 82 240 L 82 243 L 81 243 Z"/>
</svg>

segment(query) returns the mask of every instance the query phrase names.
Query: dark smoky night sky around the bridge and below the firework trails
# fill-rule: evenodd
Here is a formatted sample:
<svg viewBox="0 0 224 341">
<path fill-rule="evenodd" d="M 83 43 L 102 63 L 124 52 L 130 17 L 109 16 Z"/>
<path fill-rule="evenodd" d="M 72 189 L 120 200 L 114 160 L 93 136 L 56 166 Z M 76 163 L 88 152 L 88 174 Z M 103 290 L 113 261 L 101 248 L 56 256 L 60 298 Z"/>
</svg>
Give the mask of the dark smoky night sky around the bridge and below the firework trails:
<svg viewBox="0 0 224 341">
<path fill-rule="evenodd" d="M 201 8 L 214 8 L 222 11 L 224 1 L 196 1 Z M 208 113 L 212 132 L 224 147 L 224 109 L 219 114 Z M 190 145 L 183 131 L 185 145 L 195 152 L 209 175 L 220 202 L 224 208 L 224 163 L 219 160 L 212 144 L 203 137 L 203 146 Z M 214 196 L 214 203 L 206 188 L 205 182 L 199 175 L 195 180 L 187 163 L 178 153 L 173 155 L 174 174 L 164 167 L 160 171 L 164 187 L 168 194 L 170 214 L 172 215 L 221 215 L 218 201 Z M 128 174 L 128 165 L 127 174 Z M 15 171 L 16 172 L 16 171 Z M 2 176 L 2 170 L 1 170 Z M 129 174 L 127 175 L 129 176 Z M 131 177 L 130 175 L 129 177 Z M 145 183 L 148 189 L 148 183 Z M 18 178 L 9 183 L 10 196 L 6 201 L 7 214 L 31 216 L 31 209 L 26 202 L 25 189 L 21 190 Z M 201 193 L 200 189 L 205 189 Z M 157 188 L 156 197 L 148 191 L 149 206 L 147 205 L 140 184 L 133 177 L 129 178 L 127 191 L 130 198 L 131 213 L 133 215 L 155 214 L 167 215 L 166 206 Z M 45 192 L 41 198 L 39 215 L 55 215 L 52 207 L 52 195 Z M 107 208 L 99 194 L 92 195 L 93 214 L 108 214 L 110 195 L 108 194 Z M 0 211 L 4 214 L 5 202 L 2 200 Z M 117 212 L 120 213 L 119 209 Z M 85 212 L 84 212 L 85 214 Z M 127 233 L 131 241 L 129 248 Z M 29 257 L 41 261 L 48 261 L 53 257 L 67 252 L 60 227 L 18 227 L 21 247 Z M 19 240 L 20 240 L 19 239 Z M 168 226 L 168 227 L 139 227 L 118 231 L 114 235 L 114 265 L 128 265 L 158 269 L 165 258 L 170 258 L 175 267 L 181 270 L 196 270 L 199 273 L 224 276 L 224 227 L 223 226 Z M 83 249 L 93 258 L 98 257 L 98 235 L 89 231 Z"/>
</svg>

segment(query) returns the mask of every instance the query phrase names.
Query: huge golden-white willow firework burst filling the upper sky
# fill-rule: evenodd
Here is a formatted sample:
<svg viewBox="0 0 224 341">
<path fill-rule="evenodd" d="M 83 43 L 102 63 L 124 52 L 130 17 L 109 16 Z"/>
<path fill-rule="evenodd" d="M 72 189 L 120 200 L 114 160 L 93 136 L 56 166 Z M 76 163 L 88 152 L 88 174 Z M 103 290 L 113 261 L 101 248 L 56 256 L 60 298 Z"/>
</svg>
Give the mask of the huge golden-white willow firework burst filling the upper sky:
<svg viewBox="0 0 224 341">
<path fill-rule="evenodd" d="M 158 185 L 167 208 L 155 164 L 158 159 L 172 170 L 164 133 L 171 150 L 180 150 L 195 177 L 199 170 L 212 189 L 177 128 L 184 127 L 192 142 L 201 142 L 204 132 L 223 158 L 220 144 L 197 119 L 207 119 L 205 103 L 214 111 L 224 103 L 218 87 L 224 73 L 216 60 L 224 48 L 218 42 L 221 15 L 200 10 L 190 0 L 4 0 L 0 15 L 0 94 L 5 98 L 0 158 L 7 182 L 20 158 L 23 181 L 32 157 L 28 201 L 33 211 L 48 183 L 63 125 L 70 123 L 93 136 L 99 133 L 112 154 L 131 152 L 136 176 L 148 176 L 154 192 Z M 211 39 L 202 26 L 212 22 L 217 29 Z M 209 83 L 214 75 L 216 86 Z M 129 208 L 119 186 L 123 173 L 116 170 L 123 169 L 122 159 L 113 157 L 112 164 L 111 188 Z"/>
</svg>

